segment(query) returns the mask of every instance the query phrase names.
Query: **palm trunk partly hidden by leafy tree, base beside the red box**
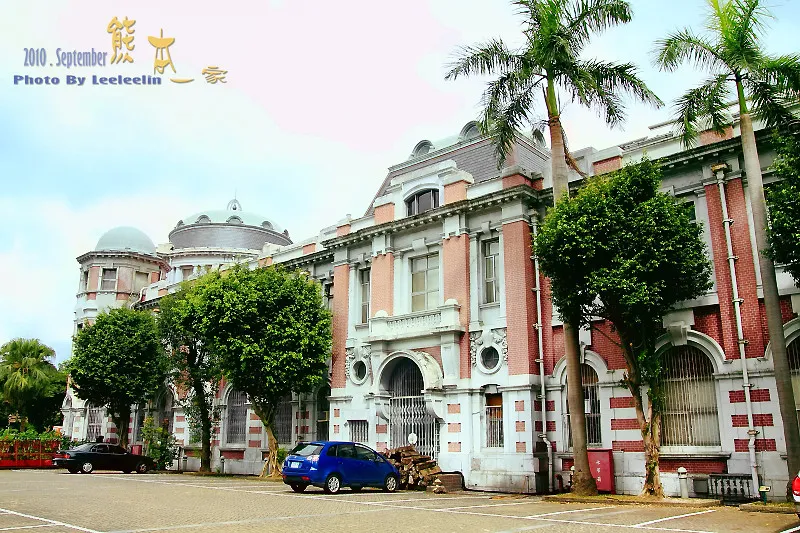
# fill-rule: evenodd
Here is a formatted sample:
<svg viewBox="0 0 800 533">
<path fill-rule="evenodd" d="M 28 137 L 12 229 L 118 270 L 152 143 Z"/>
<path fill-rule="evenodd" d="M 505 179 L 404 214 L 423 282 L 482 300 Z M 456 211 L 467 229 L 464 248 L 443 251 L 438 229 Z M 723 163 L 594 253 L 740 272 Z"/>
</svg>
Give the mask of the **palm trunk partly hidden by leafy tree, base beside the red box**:
<svg viewBox="0 0 800 533">
<path fill-rule="evenodd" d="M 569 193 L 569 168 L 565 158 L 564 136 L 561 118 L 552 82 L 547 86 L 547 109 L 550 129 L 550 163 L 552 165 L 553 203 L 561 201 Z M 583 383 L 581 382 L 580 342 L 575 324 L 579 317 L 564 321 L 564 358 L 567 361 L 567 401 L 572 406 L 569 414 L 572 430 L 572 450 L 575 474 L 572 490 L 575 494 L 597 494 L 597 482 L 589 469 L 589 454 L 586 445 L 586 414 L 583 412 Z M 544 376 L 539 376 L 544 379 Z M 546 406 L 542 406 L 545 409 Z M 546 429 L 546 428 L 545 428 Z"/>
</svg>

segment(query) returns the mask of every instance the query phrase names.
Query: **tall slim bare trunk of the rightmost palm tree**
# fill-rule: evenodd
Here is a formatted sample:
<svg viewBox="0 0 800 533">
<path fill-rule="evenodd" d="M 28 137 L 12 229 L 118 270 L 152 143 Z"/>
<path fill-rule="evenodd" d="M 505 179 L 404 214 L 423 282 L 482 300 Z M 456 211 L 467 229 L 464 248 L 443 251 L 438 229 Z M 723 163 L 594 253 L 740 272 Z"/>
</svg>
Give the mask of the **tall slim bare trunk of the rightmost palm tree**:
<svg viewBox="0 0 800 533">
<path fill-rule="evenodd" d="M 741 91 L 740 91 L 741 92 Z M 740 106 L 744 107 L 740 98 Z M 783 436 L 786 441 L 787 466 L 789 484 L 800 471 L 800 430 L 797 424 L 794 392 L 792 390 L 792 374 L 789 370 L 789 359 L 786 355 L 786 338 L 783 334 L 783 316 L 781 314 L 778 282 L 775 277 L 775 265 L 767 257 L 767 204 L 764 200 L 764 183 L 761 177 L 761 162 L 758 158 L 756 136 L 753 122 L 746 108 L 741 113 L 742 151 L 744 152 L 744 168 L 747 177 L 747 190 L 753 210 L 753 230 L 756 237 L 758 267 L 761 272 L 761 283 L 764 289 L 764 307 L 767 314 L 767 329 L 772 349 L 772 364 L 775 369 L 775 386 L 778 391 L 781 418 L 783 419 Z M 757 306 L 757 302 L 752 303 Z M 788 489 L 787 489 L 788 490 Z"/>
</svg>

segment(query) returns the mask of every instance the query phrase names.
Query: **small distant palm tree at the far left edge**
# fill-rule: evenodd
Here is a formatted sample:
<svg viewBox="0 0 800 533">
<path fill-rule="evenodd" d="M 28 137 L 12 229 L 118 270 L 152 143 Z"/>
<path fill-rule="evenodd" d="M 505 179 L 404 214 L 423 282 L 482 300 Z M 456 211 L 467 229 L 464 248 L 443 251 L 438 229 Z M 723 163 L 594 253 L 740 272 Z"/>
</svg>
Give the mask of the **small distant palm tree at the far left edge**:
<svg viewBox="0 0 800 533">
<path fill-rule="evenodd" d="M 55 352 L 37 339 L 14 339 L 0 346 L 0 382 L 3 400 L 20 417 L 20 429 L 25 430 L 27 405 L 48 385 L 58 371 L 48 359 Z"/>
</svg>

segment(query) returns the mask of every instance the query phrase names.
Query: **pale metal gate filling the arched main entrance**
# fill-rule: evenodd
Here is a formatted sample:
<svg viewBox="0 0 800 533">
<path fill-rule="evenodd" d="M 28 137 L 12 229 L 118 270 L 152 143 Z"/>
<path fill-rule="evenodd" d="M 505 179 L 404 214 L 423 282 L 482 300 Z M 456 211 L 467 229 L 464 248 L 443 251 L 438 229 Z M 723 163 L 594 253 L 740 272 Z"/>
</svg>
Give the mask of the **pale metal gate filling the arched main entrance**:
<svg viewBox="0 0 800 533">
<path fill-rule="evenodd" d="M 397 363 L 390 378 L 389 400 L 390 446 L 408 444 L 408 436 L 417 436 L 417 451 L 436 459 L 439 455 L 439 422 L 425 410 L 422 372 L 411 359 Z"/>
</svg>

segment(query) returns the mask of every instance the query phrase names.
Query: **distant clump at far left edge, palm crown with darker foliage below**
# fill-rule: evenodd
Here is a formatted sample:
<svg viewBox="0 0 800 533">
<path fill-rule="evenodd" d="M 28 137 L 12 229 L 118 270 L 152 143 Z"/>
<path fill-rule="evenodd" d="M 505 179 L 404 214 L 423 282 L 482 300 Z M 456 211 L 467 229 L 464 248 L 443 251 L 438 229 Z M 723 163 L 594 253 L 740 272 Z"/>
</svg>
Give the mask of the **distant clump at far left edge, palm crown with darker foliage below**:
<svg viewBox="0 0 800 533">
<path fill-rule="evenodd" d="M 52 409 L 43 398 L 53 395 L 63 376 L 50 362 L 55 352 L 37 339 L 14 339 L 0 347 L 0 383 L 3 385 L 3 401 L 9 411 L 17 415 L 20 429 L 25 431 L 28 420 L 34 418 L 39 429 L 41 423 L 53 418 Z M 63 399 L 66 387 L 60 393 Z M 56 406 L 58 412 L 60 402 Z M 48 409 L 45 412 L 39 409 Z M 50 415 L 48 417 L 48 414 Z"/>
</svg>

